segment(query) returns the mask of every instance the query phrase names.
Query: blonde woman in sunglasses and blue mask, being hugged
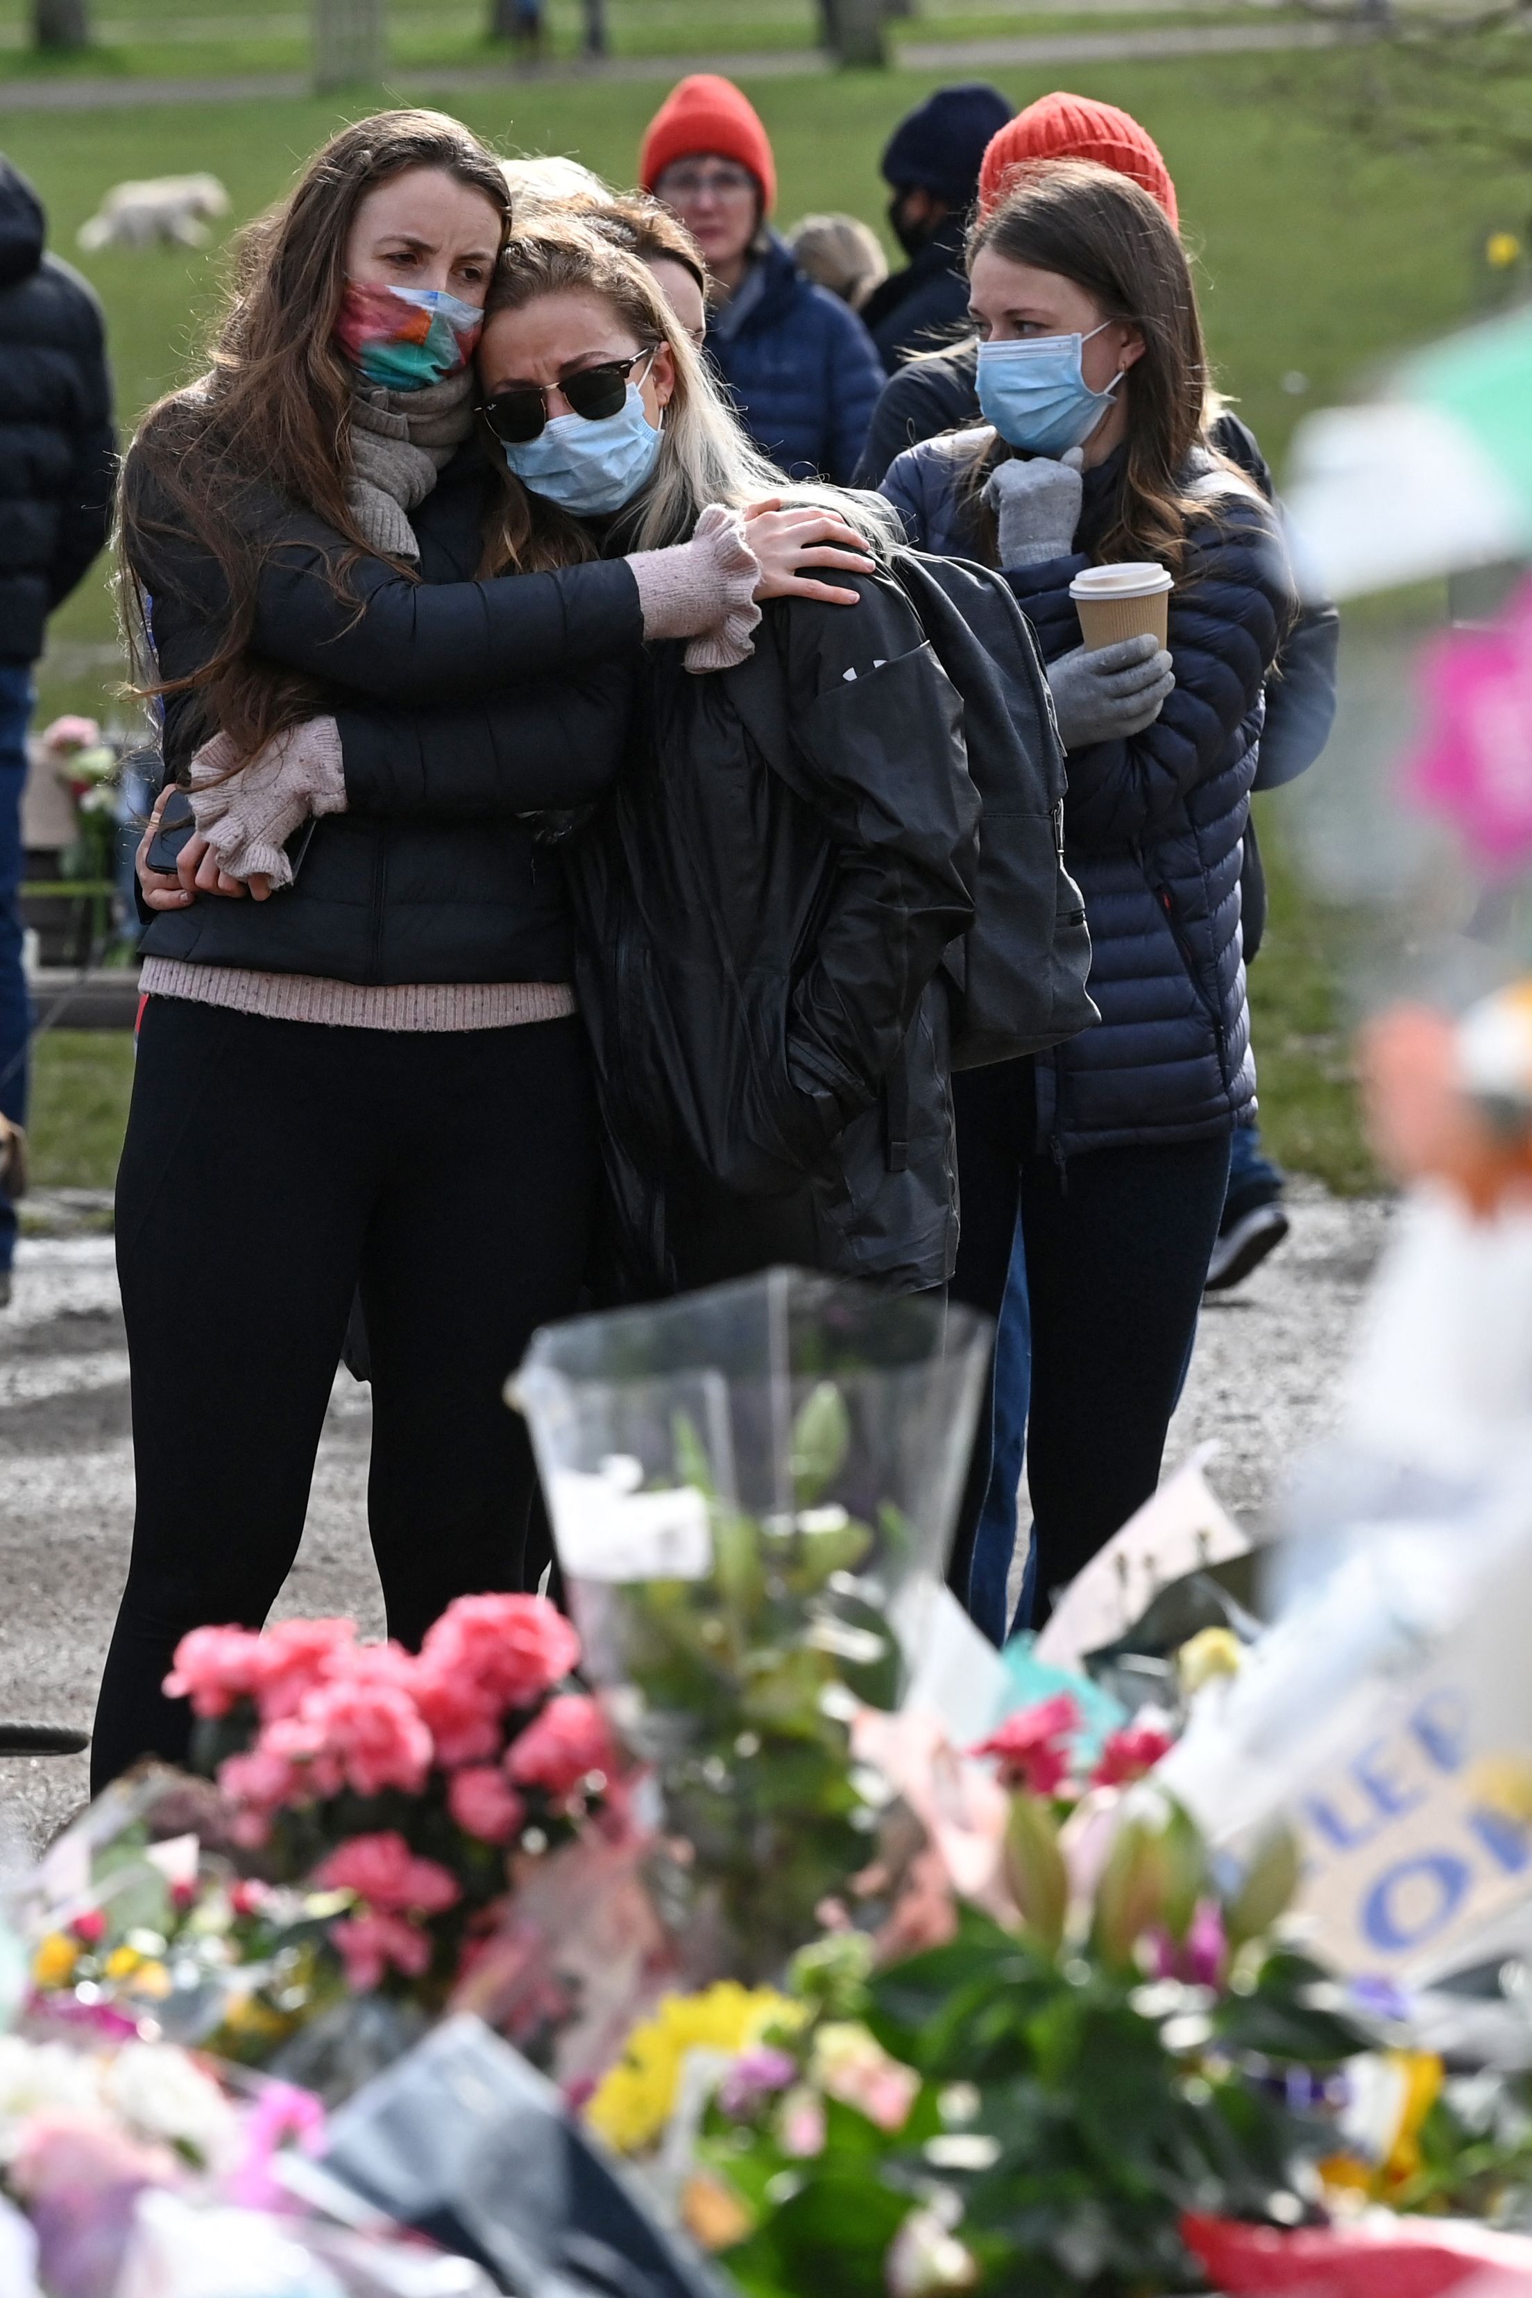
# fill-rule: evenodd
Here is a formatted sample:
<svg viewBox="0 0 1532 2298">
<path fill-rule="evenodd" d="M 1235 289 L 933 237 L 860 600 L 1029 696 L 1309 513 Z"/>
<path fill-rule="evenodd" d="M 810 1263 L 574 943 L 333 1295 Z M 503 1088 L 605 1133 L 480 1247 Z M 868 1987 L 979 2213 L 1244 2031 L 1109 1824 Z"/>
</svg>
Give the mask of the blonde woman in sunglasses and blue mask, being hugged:
<svg viewBox="0 0 1532 2298">
<path fill-rule="evenodd" d="M 505 250 L 478 365 L 496 563 L 664 549 L 772 483 L 648 269 L 574 218 Z M 910 1289 L 951 1273 L 933 977 L 972 917 L 978 800 L 955 692 L 889 574 L 900 531 L 868 499 L 848 519 L 857 614 L 820 591 L 650 648 L 643 738 L 567 846 L 634 1289 L 772 1262 Z"/>
</svg>

